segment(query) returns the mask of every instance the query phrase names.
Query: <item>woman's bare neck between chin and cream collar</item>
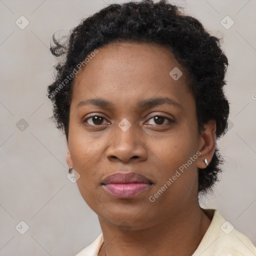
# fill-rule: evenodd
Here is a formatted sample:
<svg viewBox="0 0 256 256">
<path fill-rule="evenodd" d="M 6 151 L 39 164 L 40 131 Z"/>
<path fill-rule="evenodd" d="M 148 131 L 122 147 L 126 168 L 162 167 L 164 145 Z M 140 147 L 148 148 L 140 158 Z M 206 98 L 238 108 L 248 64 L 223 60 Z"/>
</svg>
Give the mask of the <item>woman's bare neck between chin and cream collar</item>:
<svg viewBox="0 0 256 256">
<path fill-rule="evenodd" d="M 98 216 L 104 243 L 99 256 L 189 256 L 199 245 L 211 219 L 197 204 L 175 216 L 168 215 L 148 228 L 127 231 Z"/>
</svg>

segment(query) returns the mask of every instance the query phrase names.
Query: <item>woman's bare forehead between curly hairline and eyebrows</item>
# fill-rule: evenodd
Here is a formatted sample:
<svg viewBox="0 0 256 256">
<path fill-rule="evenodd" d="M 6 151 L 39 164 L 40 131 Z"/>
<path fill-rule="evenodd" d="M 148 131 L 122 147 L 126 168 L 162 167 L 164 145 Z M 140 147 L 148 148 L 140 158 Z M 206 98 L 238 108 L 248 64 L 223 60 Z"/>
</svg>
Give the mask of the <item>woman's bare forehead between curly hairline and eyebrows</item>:
<svg viewBox="0 0 256 256">
<path fill-rule="evenodd" d="M 95 96 L 126 105 L 153 95 L 182 101 L 188 93 L 186 73 L 169 48 L 121 42 L 98 48 L 76 74 L 72 103 Z"/>
</svg>

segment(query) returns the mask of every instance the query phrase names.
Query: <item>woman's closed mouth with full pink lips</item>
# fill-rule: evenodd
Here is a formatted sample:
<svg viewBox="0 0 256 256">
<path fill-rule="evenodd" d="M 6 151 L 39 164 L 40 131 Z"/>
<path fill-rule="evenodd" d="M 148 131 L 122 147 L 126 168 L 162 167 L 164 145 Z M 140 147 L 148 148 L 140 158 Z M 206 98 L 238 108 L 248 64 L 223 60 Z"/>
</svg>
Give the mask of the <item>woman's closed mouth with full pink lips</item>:
<svg viewBox="0 0 256 256">
<path fill-rule="evenodd" d="M 116 198 L 133 198 L 152 184 L 148 178 L 135 172 L 117 172 L 107 176 L 101 183 L 103 188 Z"/>
</svg>

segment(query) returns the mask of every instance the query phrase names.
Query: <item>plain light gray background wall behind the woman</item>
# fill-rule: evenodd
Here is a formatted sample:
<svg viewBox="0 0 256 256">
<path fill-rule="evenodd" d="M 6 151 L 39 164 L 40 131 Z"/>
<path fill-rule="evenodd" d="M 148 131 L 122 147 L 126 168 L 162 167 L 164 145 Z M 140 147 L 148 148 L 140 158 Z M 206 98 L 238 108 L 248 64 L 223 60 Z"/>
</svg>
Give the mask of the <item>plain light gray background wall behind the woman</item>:
<svg viewBox="0 0 256 256">
<path fill-rule="evenodd" d="M 45 94 L 55 64 L 48 49 L 51 35 L 67 34 L 81 18 L 113 2 L 122 1 L 0 0 L 0 255 L 74 255 L 101 232 L 96 214 L 66 177 L 65 137 L 48 119 Z M 200 203 L 217 208 L 256 244 L 256 1 L 178 4 L 212 35 L 223 37 L 230 63 L 229 130 L 217 141 L 226 163 L 214 194 Z M 29 21 L 24 29 L 15 24 L 21 15 Z M 229 29 L 220 23 L 226 15 L 234 21 Z M 28 123 L 23 131 L 16 126 L 21 118 Z M 29 226 L 24 234 L 15 229 L 21 220 Z"/>
</svg>

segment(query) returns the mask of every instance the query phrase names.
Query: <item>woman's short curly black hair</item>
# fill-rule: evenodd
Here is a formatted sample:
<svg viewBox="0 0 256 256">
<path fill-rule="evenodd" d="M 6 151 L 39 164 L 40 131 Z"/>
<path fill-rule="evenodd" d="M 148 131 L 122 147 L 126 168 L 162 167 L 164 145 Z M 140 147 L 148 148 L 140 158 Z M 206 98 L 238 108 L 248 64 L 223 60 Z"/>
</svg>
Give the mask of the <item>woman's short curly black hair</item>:
<svg viewBox="0 0 256 256">
<path fill-rule="evenodd" d="M 220 48 L 220 39 L 210 35 L 196 18 L 182 14 L 178 6 L 166 0 L 110 4 L 82 19 L 71 29 L 64 43 L 54 34 L 52 39 L 54 46 L 50 51 L 61 60 L 55 65 L 55 80 L 47 87 L 47 97 L 53 103 L 50 118 L 58 129 L 64 130 L 66 139 L 73 81 L 70 73 L 93 50 L 121 41 L 168 46 L 189 77 L 187 85 L 196 103 L 198 132 L 203 131 L 203 124 L 214 120 L 216 139 L 226 133 L 229 103 L 223 86 L 226 84 L 227 57 Z M 206 194 L 218 181 L 217 174 L 223 162 L 215 148 L 209 165 L 198 168 L 198 193 Z"/>
</svg>

